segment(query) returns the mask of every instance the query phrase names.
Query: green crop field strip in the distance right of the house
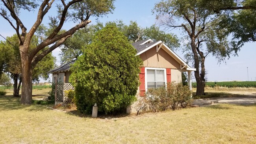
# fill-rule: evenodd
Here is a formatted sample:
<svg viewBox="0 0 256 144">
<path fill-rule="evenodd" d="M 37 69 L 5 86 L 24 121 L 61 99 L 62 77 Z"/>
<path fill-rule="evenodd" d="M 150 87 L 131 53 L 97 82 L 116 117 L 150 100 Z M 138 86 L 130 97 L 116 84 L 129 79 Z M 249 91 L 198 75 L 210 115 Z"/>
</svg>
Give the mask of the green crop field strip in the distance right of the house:
<svg viewBox="0 0 256 144">
<path fill-rule="evenodd" d="M 206 86 L 208 87 L 255 87 L 256 88 L 256 81 L 223 81 L 223 82 L 206 82 Z M 192 83 L 192 87 L 196 88 L 197 83 Z"/>
</svg>

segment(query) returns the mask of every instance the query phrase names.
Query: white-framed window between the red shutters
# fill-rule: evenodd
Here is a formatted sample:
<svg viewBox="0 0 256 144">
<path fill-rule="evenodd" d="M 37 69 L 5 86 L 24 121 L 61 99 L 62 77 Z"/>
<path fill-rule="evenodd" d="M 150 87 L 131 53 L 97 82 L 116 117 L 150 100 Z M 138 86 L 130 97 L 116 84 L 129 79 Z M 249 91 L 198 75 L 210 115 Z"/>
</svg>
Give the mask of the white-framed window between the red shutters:
<svg viewBox="0 0 256 144">
<path fill-rule="evenodd" d="M 145 70 L 145 87 L 150 88 L 164 87 L 166 85 L 165 68 L 146 68 Z"/>
</svg>

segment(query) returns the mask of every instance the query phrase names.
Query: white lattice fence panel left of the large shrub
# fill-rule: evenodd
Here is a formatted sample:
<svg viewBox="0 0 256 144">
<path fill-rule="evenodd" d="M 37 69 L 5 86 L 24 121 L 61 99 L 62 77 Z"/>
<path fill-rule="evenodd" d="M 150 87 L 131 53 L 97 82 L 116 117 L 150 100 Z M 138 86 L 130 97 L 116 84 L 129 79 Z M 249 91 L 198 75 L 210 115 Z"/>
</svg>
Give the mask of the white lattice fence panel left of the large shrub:
<svg viewBox="0 0 256 144">
<path fill-rule="evenodd" d="M 71 85 L 71 83 L 58 83 L 57 84 L 57 97 L 55 104 L 67 104 L 70 103 L 71 100 L 65 96 L 65 90 L 74 90 L 74 87 Z"/>
</svg>

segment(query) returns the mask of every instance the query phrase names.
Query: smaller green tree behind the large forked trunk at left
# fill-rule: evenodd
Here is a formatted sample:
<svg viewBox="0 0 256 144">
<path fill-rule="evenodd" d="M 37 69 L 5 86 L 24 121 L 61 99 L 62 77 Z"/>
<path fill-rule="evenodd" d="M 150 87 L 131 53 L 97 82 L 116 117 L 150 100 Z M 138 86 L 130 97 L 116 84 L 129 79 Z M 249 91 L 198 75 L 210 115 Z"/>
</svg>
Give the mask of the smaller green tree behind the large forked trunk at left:
<svg viewBox="0 0 256 144">
<path fill-rule="evenodd" d="M 38 37 L 33 36 L 30 50 L 33 50 L 38 45 Z M 39 81 L 39 78 L 48 79 L 49 70 L 54 68 L 56 58 L 52 53 L 47 54 L 41 61 L 37 63 L 32 72 L 32 81 Z M 1 72 L 8 72 L 13 79 L 13 96 L 19 96 L 21 79 L 21 61 L 19 52 L 19 38 L 17 35 L 7 37 L 6 41 L 0 41 L 0 63 Z"/>
</svg>

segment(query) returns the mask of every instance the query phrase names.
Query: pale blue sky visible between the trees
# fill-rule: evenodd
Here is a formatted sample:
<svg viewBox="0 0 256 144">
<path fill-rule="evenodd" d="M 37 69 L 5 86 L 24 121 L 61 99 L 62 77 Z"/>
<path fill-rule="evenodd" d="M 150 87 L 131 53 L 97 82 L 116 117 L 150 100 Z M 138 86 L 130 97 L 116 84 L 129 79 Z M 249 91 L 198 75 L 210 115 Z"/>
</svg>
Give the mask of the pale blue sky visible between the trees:
<svg viewBox="0 0 256 144">
<path fill-rule="evenodd" d="M 156 23 L 155 15 L 152 15 L 151 10 L 154 4 L 158 0 L 117 0 L 115 2 L 115 10 L 113 14 L 109 14 L 103 18 L 99 18 L 100 22 L 108 22 L 113 20 L 123 20 L 124 23 L 129 24 L 130 20 L 137 21 L 141 27 L 149 27 Z M 51 9 L 46 15 L 43 23 L 48 22 L 48 16 L 54 15 L 55 9 Z M 35 12 L 24 12 L 20 13 L 20 19 L 24 25 L 30 29 L 36 18 Z M 92 24 L 95 24 L 95 18 L 91 17 Z M 0 34 L 4 37 L 11 36 L 15 31 L 11 28 L 9 23 L 0 18 Z M 63 28 L 68 29 L 75 24 L 67 23 Z M 167 31 L 170 32 L 170 31 Z M 174 30 L 171 31 L 178 36 L 181 35 L 181 31 Z M 4 40 L 0 37 L 0 40 Z M 180 57 L 184 57 L 182 52 L 176 52 Z M 53 51 L 53 54 L 58 58 L 59 49 Z M 246 43 L 238 52 L 238 56 L 230 57 L 225 63 L 217 64 L 217 60 L 214 57 L 207 57 L 205 62 L 205 67 L 207 70 L 208 81 L 232 81 L 241 80 L 247 81 L 247 67 L 249 73 L 249 81 L 256 79 L 256 42 Z M 58 63 L 59 64 L 59 63 Z"/>
</svg>

